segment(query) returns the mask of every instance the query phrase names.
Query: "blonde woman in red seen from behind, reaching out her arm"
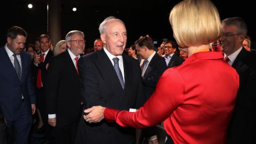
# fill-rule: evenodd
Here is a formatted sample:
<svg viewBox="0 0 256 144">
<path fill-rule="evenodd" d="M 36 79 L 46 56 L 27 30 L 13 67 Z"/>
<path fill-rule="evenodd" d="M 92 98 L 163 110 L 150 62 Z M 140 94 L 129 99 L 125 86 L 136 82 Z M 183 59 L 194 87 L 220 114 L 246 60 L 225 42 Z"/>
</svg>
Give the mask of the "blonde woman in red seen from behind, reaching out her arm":
<svg viewBox="0 0 256 144">
<path fill-rule="evenodd" d="M 218 10 L 207 0 L 181 1 L 171 10 L 170 23 L 180 49 L 188 53 L 186 61 L 165 70 L 153 95 L 136 112 L 94 106 L 84 110 L 89 113 L 84 119 L 105 118 L 136 128 L 164 121 L 165 143 L 224 144 L 239 76 L 220 52 L 209 50 L 209 43 L 222 34 Z"/>
</svg>

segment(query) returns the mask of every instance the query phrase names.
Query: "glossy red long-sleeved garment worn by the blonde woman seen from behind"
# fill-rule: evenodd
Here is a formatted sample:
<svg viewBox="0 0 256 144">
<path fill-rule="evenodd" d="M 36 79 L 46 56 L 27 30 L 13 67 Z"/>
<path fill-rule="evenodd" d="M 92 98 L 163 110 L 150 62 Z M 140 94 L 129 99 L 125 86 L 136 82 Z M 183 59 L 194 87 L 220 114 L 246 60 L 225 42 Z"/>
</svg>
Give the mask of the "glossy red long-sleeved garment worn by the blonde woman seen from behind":
<svg viewBox="0 0 256 144">
<path fill-rule="evenodd" d="M 167 69 L 136 113 L 106 108 L 105 119 L 143 128 L 164 121 L 174 143 L 225 143 L 239 76 L 220 52 L 199 52 Z"/>
</svg>

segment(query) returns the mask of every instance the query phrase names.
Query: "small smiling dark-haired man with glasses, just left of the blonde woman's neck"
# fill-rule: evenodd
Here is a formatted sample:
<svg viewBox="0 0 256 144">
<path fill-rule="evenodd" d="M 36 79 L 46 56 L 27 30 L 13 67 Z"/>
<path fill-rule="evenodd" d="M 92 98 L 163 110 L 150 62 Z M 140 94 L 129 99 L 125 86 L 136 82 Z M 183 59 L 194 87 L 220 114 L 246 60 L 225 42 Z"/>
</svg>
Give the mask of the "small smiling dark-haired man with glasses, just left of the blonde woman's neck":
<svg viewBox="0 0 256 144">
<path fill-rule="evenodd" d="M 178 44 L 174 41 L 168 40 L 165 44 L 165 51 L 163 57 L 165 58 L 165 62 L 167 68 L 175 67 L 181 65 L 183 63 L 183 59 L 175 54 L 178 51 Z"/>
</svg>

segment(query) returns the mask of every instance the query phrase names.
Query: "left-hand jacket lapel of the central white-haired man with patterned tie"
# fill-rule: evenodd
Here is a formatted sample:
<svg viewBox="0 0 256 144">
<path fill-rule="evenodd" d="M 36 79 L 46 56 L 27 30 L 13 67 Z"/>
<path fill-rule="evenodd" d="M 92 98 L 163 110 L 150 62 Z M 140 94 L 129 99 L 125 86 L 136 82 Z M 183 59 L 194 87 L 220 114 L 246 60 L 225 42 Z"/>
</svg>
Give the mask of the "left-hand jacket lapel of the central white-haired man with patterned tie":
<svg viewBox="0 0 256 144">
<path fill-rule="evenodd" d="M 123 95 L 123 89 L 116 75 L 114 66 L 103 49 L 98 51 L 97 61 L 94 64 L 96 67 L 98 66 L 99 73 L 107 85 L 109 85 L 110 90 L 113 90 L 116 95 Z"/>
</svg>

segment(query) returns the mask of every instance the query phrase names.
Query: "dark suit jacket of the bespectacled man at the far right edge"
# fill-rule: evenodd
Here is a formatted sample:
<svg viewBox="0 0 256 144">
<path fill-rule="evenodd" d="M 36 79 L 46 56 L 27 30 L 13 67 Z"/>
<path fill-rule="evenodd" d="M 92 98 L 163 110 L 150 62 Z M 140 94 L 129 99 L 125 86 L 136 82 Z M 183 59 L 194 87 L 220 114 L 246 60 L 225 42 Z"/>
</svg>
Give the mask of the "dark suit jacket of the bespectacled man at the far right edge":
<svg viewBox="0 0 256 144">
<path fill-rule="evenodd" d="M 256 143 L 256 55 L 244 48 L 232 67 L 239 75 L 236 106 L 228 131 L 228 143 Z"/>
</svg>

